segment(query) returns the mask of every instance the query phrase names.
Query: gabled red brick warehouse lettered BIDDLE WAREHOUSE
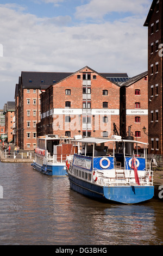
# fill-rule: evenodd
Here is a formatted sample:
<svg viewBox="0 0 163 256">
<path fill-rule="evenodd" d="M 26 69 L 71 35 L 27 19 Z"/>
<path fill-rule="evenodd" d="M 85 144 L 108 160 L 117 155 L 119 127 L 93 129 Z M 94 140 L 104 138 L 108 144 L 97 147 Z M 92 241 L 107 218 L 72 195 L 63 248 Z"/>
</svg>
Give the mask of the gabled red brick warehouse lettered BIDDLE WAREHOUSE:
<svg viewBox="0 0 163 256">
<path fill-rule="evenodd" d="M 41 135 L 109 137 L 113 124 L 120 126 L 120 86 L 111 81 L 111 74 L 98 74 L 86 66 L 42 87 L 42 92 Z"/>
</svg>

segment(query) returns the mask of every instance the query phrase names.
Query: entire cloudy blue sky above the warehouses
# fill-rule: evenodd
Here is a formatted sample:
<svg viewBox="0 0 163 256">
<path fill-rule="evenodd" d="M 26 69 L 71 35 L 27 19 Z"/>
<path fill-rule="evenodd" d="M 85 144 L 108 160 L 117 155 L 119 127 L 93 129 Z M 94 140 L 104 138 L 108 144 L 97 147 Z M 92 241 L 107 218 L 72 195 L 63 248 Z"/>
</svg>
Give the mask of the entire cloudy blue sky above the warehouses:
<svg viewBox="0 0 163 256">
<path fill-rule="evenodd" d="M 147 71 L 152 0 L 1 0 L 0 108 L 22 71 Z"/>
</svg>

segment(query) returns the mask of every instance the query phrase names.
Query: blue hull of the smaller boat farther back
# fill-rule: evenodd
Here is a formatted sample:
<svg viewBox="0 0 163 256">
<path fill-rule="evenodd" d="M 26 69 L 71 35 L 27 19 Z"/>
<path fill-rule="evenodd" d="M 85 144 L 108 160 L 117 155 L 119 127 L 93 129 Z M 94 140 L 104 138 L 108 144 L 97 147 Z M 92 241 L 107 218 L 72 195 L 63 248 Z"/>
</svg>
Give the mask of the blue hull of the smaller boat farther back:
<svg viewBox="0 0 163 256">
<path fill-rule="evenodd" d="M 50 165 L 50 164 L 40 165 L 39 163 L 33 162 L 31 165 L 38 172 L 49 175 L 49 176 L 66 176 L 67 175 L 66 164 L 64 163 L 53 164 L 53 165 Z"/>
</svg>

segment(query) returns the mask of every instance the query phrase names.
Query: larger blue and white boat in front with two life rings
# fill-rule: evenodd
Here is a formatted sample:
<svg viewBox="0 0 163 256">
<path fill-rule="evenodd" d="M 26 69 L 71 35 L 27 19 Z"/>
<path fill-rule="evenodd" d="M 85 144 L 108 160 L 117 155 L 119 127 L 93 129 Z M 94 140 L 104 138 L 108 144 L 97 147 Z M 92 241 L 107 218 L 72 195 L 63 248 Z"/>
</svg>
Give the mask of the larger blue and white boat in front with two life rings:
<svg viewBox="0 0 163 256">
<path fill-rule="evenodd" d="M 72 190 L 91 198 L 123 204 L 153 198 L 153 172 L 150 166 L 147 169 L 146 143 L 121 139 L 120 136 L 81 138 L 73 142 L 78 147 L 78 154 L 67 157 Z M 120 145 L 121 154 L 115 152 L 116 143 Z M 126 153 L 126 148 L 136 151 L 140 145 L 143 145 L 142 154 Z"/>
</svg>

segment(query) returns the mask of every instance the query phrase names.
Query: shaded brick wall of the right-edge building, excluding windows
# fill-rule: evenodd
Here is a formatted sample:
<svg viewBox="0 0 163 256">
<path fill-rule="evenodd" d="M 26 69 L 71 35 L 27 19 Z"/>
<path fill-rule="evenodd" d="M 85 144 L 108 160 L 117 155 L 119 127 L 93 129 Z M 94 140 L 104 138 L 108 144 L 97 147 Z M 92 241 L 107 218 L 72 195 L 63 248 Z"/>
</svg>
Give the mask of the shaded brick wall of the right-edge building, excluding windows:
<svg viewBox="0 0 163 256">
<path fill-rule="evenodd" d="M 159 29 L 156 31 L 156 21 L 159 20 Z M 153 33 L 151 25 L 153 26 Z M 149 153 L 163 154 L 162 150 L 162 59 L 159 57 L 159 50 L 156 51 L 156 41 L 160 45 L 162 40 L 162 1 L 159 2 L 159 11 L 156 7 L 148 26 L 148 123 L 149 123 Z M 151 44 L 153 44 L 153 49 Z M 158 62 L 158 72 L 156 72 L 155 63 Z M 151 65 L 153 64 L 153 75 Z M 158 93 L 156 93 L 156 84 L 158 84 Z M 153 95 L 152 89 L 153 86 Z M 153 121 L 152 114 L 153 111 Z M 158 121 L 156 120 L 156 111 L 158 111 Z M 159 139 L 157 149 L 156 140 Z M 152 145 L 153 140 L 153 145 Z"/>
</svg>

